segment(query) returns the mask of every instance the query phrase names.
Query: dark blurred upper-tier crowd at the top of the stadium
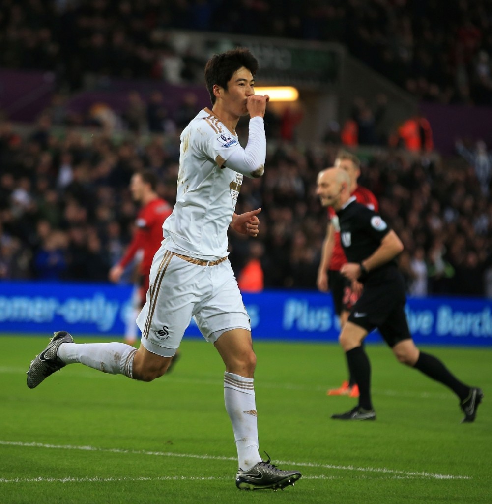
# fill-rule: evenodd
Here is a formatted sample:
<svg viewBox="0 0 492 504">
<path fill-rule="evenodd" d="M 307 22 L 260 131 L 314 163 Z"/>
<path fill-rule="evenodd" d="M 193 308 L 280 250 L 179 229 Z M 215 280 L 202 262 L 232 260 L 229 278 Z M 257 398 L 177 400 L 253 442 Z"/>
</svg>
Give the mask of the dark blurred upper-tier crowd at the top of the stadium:
<svg viewBox="0 0 492 504">
<path fill-rule="evenodd" d="M 89 75 L 196 82 L 204 61 L 170 29 L 340 42 L 421 100 L 492 105 L 489 0 L 3 0 L 0 67 L 71 91 Z"/>
</svg>

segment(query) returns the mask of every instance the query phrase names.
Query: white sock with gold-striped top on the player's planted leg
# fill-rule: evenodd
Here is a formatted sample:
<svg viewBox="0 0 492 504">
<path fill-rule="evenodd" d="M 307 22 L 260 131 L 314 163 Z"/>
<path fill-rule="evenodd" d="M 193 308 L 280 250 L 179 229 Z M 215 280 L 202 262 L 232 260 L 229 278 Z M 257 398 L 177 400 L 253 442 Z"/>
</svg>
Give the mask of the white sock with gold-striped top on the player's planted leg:
<svg viewBox="0 0 492 504">
<path fill-rule="evenodd" d="M 262 460 L 258 451 L 258 419 L 253 379 L 225 371 L 224 402 L 234 431 L 239 469 L 251 469 Z"/>
</svg>

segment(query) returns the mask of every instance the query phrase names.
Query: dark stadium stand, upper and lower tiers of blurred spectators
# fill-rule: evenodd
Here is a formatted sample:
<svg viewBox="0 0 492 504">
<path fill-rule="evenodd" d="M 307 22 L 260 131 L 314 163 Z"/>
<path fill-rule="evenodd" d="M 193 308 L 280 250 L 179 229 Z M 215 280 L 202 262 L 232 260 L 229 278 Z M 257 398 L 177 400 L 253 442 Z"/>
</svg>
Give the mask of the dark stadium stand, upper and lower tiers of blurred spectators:
<svg viewBox="0 0 492 504">
<path fill-rule="evenodd" d="M 293 0 L 6 0 L 0 68 L 51 72 L 57 93 L 36 124 L 12 123 L 0 110 L 0 278 L 105 281 L 131 236 L 131 174 L 151 167 L 162 180 L 159 193 L 174 201 L 179 131 L 196 97 L 187 95 L 175 111 L 158 92 L 148 100 L 132 93 L 121 114 L 101 105 L 85 116 L 64 108 L 74 91 L 109 76 L 199 81 L 202 62 L 177 52 L 161 35 L 166 29 L 339 42 L 419 100 L 492 105 L 489 3 L 446 4 L 446 20 L 440 4 L 308 0 L 301 9 Z M 395 132 L 370 128 L 381 107 L 354 103 L 353 119 L 366 126 L 366 140 L 357 142 L 360 182 L 405 243 L 408 291 L 492 297 L 487 146 L 480 145 L 478 162 L 464 155 L 475 153 L 466 139 L 454 156 L 412 151 Z M 245 181 L 238 211 L 263 208 L 265 287 L 312 289 L 325 228 L 315 177 L 332 164 L 344 132 L 334 124 L 322 142 L 301 145 L 282 137 L 282 117 L 268 122 L 268 170 Z M 367 147 L 388 141 L 388 148 Z M 231 234 L 230 246 L 239 272 L 250 259 L 248 243 Z"/>
</svg>

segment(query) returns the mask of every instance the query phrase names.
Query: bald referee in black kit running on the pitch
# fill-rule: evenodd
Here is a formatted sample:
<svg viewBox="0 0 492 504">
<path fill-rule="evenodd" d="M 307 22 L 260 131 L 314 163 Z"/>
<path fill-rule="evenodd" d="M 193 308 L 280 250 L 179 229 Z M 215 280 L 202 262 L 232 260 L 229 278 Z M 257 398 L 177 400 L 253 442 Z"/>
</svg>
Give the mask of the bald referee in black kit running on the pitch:
<svg viewBox="0 0 492 504">
<path fill-rule="evenodd" d="M 316 194 L 323 206 L 335 209 L 340 221 L 340 238 L 348 260 L 341 272 L 353 283 L 364 285 L 340 334 L 349 369 L 359 385 L 359 404 L 332 418 L 376 419 L 370 391 L 371 367 L 361 343 L 377 328 L 399 362 L 449 387 L 459 397 L 465 414 L 462 421 L 473 422 L 483 392 L 460 382 L 438 358 L 415 346 L 404 311 L 405 284 L 396 264 L 403 244 L 386 222 L 373 210 L 357 203 L 349 190 L 346 171 L 328 168 L 318 174 Z"/>
</svg>

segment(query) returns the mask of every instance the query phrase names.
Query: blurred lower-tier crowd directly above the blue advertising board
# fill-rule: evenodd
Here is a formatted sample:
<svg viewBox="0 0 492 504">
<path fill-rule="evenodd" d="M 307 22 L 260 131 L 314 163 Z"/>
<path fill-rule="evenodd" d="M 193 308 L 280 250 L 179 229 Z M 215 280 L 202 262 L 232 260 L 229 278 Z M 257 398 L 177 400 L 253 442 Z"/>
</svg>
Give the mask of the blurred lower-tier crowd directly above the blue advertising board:
<svg viewBox="0 0 492 504">
<path fill-rule="evenodd" d="M 246 129 L 240 121 L 240 138 Z M 151 168 L 158 194 L 175 203 L 178 131 L 116 138 L 54 129 L 48 115 L 25 132 L 0 120 L 0 278 L 107 281 L 138 210 L 131 175 Z M 252 289 L 315 289 L 327 224 L 316 175 L 340 147 L 330 138 L 302 147 L 273 140 L 264 177 L 244 178 L 236 211 L 262 207 L 261 234 L 231 231 L 230 257 L 238 278 L 245 268 L 261 275 Z M 410 294 L 492 297 L 492 157 L 479 147 L 460 143 L 451 158 L 400 147 L 358 153 L 360 184 L 405 245 Z"/>
</svg>

